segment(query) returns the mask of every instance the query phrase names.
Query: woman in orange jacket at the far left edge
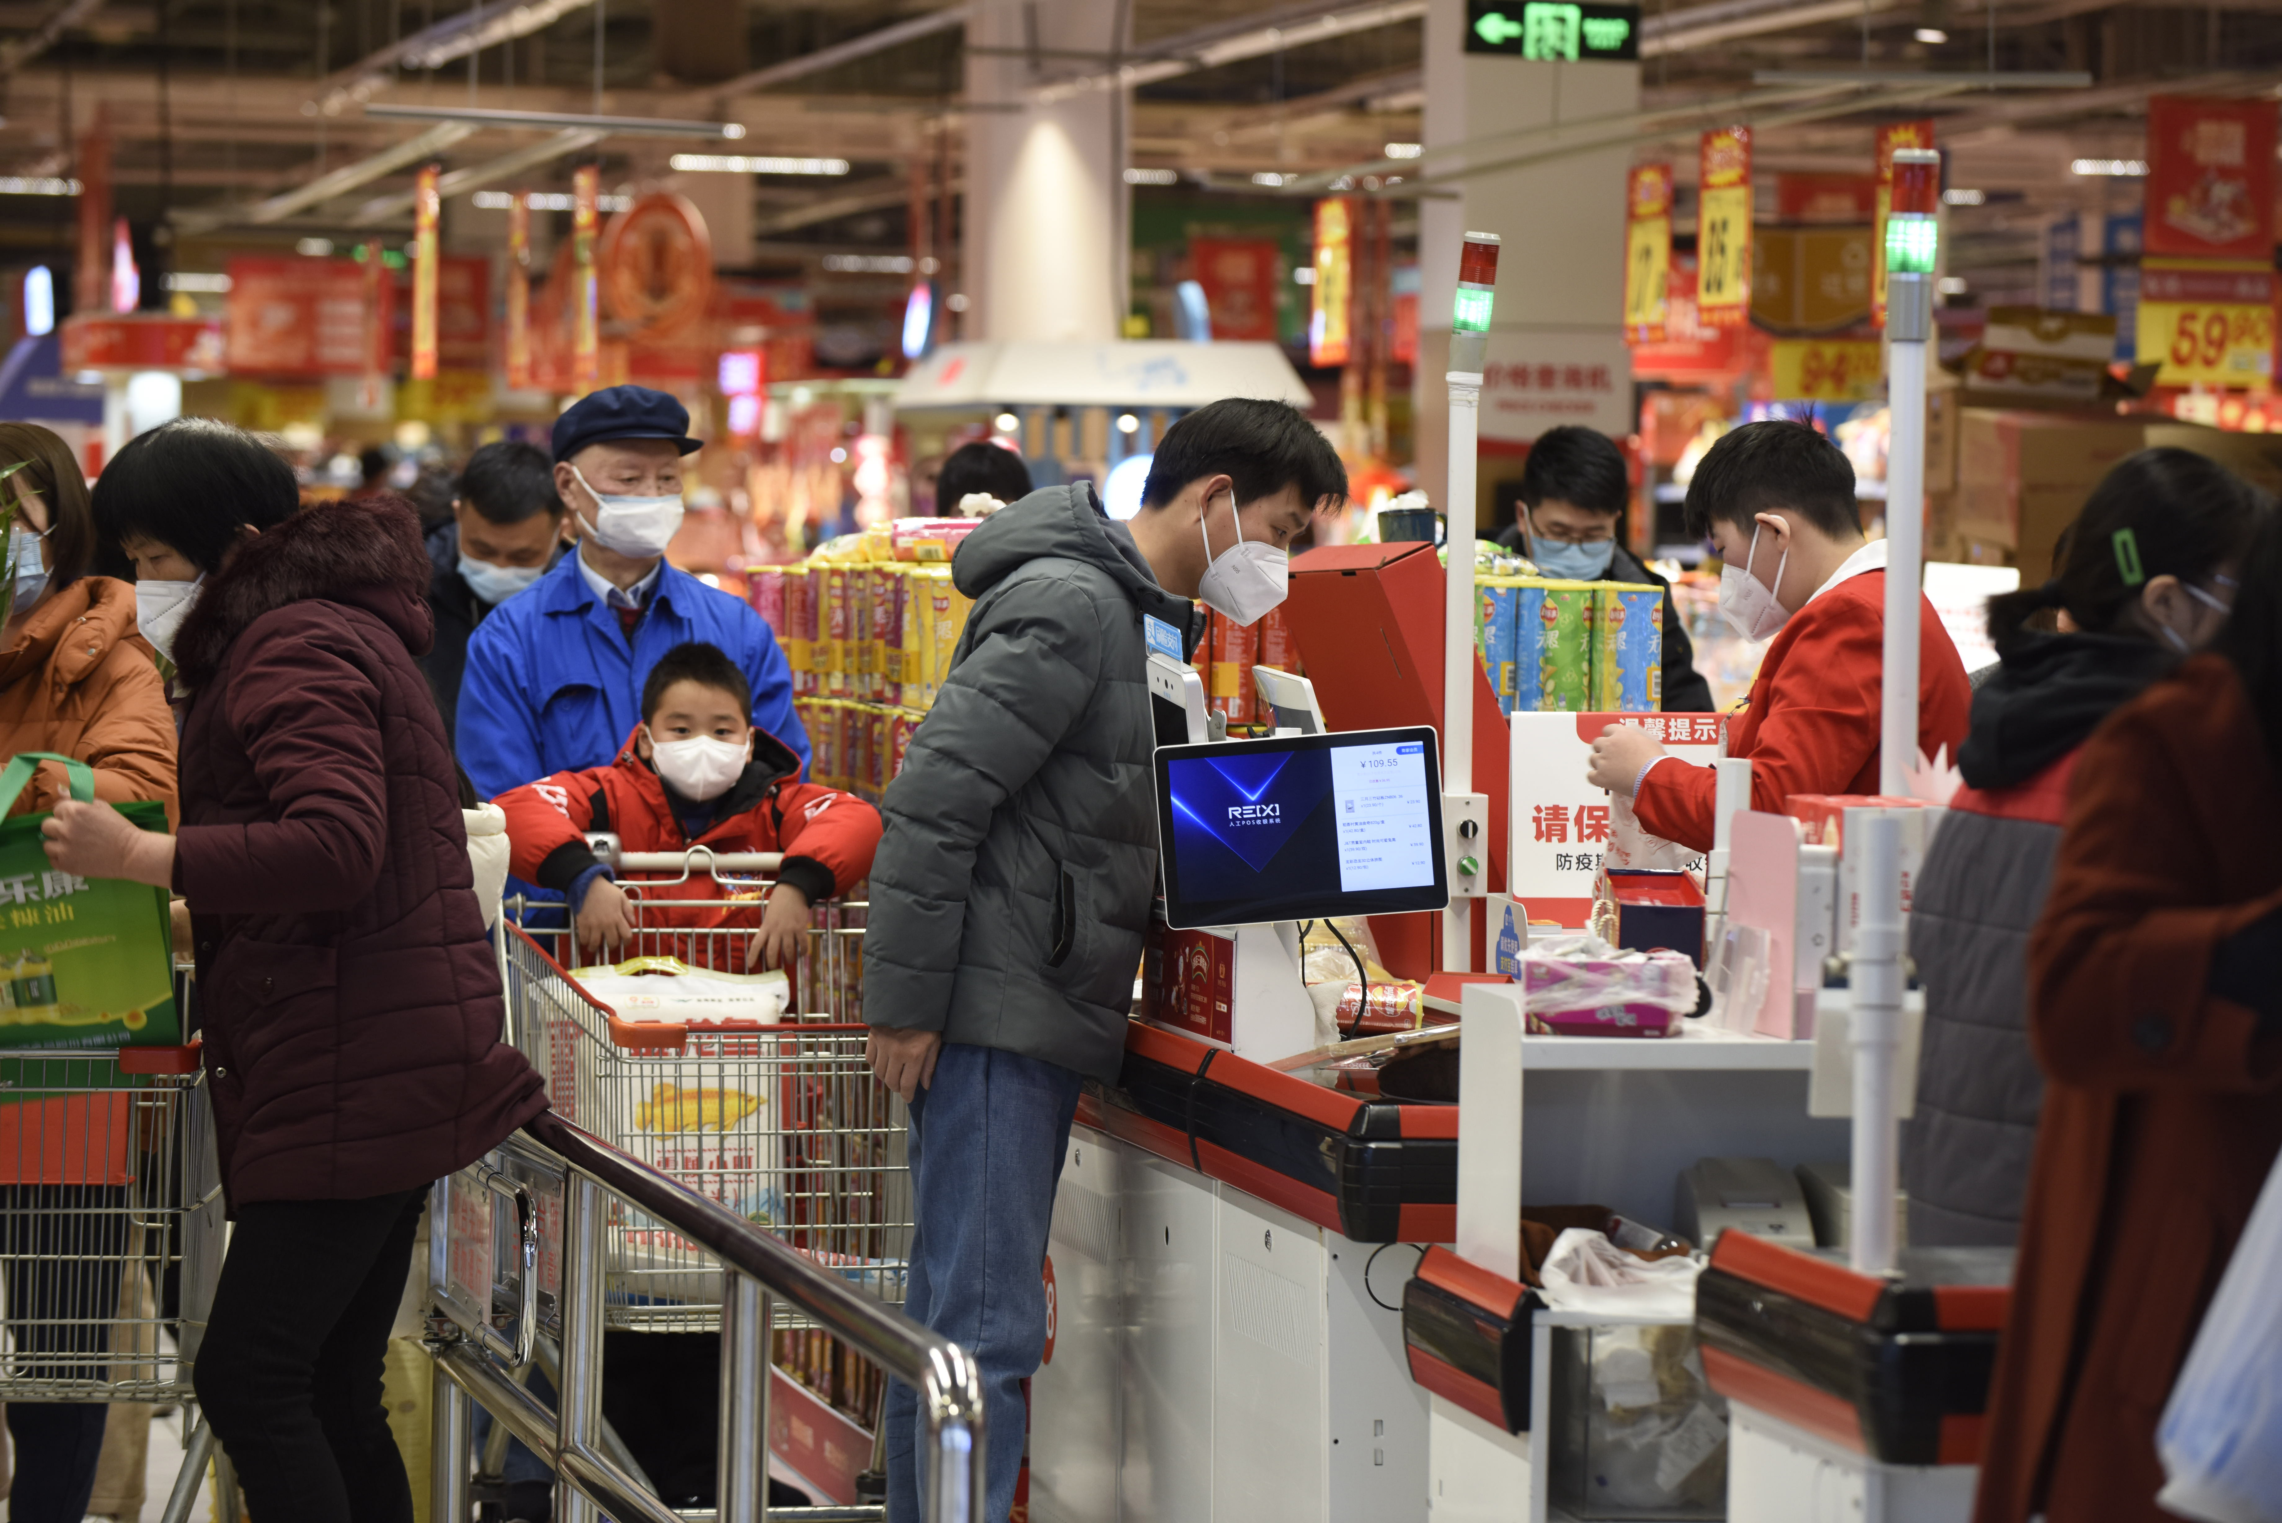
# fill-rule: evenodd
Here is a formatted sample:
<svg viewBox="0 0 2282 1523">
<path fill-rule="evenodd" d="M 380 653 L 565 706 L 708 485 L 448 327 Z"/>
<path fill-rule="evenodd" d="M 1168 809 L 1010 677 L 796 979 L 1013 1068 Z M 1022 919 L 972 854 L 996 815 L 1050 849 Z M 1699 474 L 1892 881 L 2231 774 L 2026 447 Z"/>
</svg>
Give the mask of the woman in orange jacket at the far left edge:
<svg viewBox="0 0 2282 1523">
<path fill-rule="evenodd" d="M 153 824 L 164 824 L 173 817 L 173 717 L 151 646 L 135 632 L 135 589 L 89 575 L 96 521 L 71 445 L 39 425 L 0 422 L 0 758 L 68 756 L 84 763 L 80 783 L 96 799 L 160 804 L 164 815 Z M 27 781 L 9 790 L 0 813 L 43 813 L 66 795 L 66 767 L 52 760 Z M 23 1180 L 14 1162 L 0 1158 L 0 1247 L 11 1260 L 7 1320 L 16 1347 L 78 1338 L 87 1347 L 55 1352 L 103 1354 L 96 1324 L 119 1306 L 126 1190 Z M 64 1242 L 71 1231 L 80 1240 Z M 71 1256 L 107 1260 L 107 1272 L 73 1276 L 55 1267 Z M 105 1418 L 107 1407 L 96 1402 L 9 1402 L 16 1523 L 87 1516 Z"/>
</svg>

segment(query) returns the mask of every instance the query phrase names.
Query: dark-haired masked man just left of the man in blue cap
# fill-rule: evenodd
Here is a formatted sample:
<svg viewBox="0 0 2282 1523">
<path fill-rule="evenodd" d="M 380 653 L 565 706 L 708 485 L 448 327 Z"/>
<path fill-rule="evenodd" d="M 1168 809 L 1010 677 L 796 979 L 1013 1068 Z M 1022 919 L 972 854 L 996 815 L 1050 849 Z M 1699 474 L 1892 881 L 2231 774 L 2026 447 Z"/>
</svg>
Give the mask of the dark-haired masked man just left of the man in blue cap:
<svg viewBox="0 0 2282 1523">
<path fill-rule="evenodd" d="M 420 658 L 445 731 L 456 731 L 468 639 L 491 610 L 561 559 L 564 500 L 548 452 L 520 441 L 468 457 L 452 489 L 452 518 L 429 537 L 429 612 L 436 644 Z"/>
</svg>

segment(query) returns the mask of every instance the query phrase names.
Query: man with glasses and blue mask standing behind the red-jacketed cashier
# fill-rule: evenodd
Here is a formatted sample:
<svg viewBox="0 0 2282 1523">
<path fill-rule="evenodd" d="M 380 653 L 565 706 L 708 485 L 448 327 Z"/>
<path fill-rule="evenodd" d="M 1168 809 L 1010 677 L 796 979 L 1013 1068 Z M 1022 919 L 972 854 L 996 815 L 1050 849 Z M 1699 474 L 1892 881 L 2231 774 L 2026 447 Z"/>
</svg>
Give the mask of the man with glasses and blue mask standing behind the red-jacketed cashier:
<svg viewBox="0 0 2282 1523">
<path fill-rule="evenodd" d="M 1650 571 L 1616 530 L 1632 495 L 1623 452 L 1597 429 L 1572 422 L 1547 429 L 1529 445 L 1522 466 L 1522 507 L 1497 534 L 1536 562 L 1543 575 L 1568 582 L 1641 582 L 1664 589 L 1664 710 L 1709 712 L 1712 685 L 1696 671 L 1689 626 L 1673 603 L 1673 585 Z"/>
</svg>

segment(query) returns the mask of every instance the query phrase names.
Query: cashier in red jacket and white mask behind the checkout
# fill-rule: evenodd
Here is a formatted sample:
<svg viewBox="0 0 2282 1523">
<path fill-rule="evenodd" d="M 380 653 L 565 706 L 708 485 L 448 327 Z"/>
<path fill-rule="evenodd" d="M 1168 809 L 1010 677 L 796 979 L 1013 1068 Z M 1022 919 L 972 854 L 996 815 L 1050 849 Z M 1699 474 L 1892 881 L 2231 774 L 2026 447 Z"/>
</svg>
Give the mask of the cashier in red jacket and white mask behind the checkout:
<svg viewBox="0 0 2282 1523">
<path fill-rule="evenodd" d="M 1727 724 L 1727 756 L 1753 763 L 1750 806 L 1878 792 L 1885 541 L 1862 539 L 1846 454 L 1803 422 L 1746 422 L 1696 468 L 1686 525 L 1721 557 L 1721 617 L 1769 642 Z M 1931 603 L 1917 628 L 1917 747 L 1956 756 L 1972 708 L 1965 662 Z M 1712 767 L 1666 756 L 1645 731 L 1609 728 L 1586 781 L 1629 799 L 1650 833 L 1712 847 Z"/>
</svg>

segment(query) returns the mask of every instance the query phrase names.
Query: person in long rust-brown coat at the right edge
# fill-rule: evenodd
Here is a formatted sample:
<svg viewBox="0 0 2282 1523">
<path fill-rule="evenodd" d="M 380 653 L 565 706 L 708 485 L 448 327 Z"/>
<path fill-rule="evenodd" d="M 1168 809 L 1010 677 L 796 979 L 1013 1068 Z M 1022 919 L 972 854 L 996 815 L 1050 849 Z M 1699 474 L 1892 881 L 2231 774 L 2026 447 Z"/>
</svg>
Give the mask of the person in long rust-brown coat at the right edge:
<svg viewBox="0 0 2282 1523">
<path fill-rule="evenodd" d="M 1976 1523 L 2156 1523 L 2156 1420 L 2282 1149 L 2282 518 L 2115 712 L 2029 943 L 2045 1066 Z M 2216 617 L 2216 614 L 2214 614 Z"/>
</svg>

